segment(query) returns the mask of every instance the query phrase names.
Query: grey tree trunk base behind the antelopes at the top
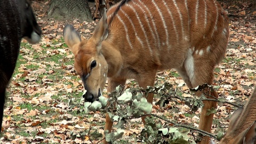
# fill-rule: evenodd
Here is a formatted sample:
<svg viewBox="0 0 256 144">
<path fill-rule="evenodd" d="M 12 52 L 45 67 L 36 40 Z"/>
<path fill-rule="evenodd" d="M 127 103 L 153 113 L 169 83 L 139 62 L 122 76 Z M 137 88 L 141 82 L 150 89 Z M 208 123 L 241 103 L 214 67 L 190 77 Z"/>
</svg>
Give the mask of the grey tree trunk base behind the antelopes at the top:
<svg viewBox="0 0 256 144">
<path fill-rule="evenodd" d="M 49 15 L 61 20 L 92 21 L 88 0 L 51 0 Z"/>
</svg>

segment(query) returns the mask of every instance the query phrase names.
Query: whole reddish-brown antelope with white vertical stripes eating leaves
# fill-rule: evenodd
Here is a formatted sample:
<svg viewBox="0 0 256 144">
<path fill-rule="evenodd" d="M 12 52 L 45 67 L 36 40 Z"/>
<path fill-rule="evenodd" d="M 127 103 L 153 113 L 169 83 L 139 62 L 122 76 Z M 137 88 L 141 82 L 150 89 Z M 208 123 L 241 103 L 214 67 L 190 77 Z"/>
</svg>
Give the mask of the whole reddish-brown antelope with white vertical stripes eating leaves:
<svg viewBox="0 0 256 144">
<path fill-rule="evenodd" d="M 188 87 L 212 84 L 214 67 L 225 57 L 228 24 L 216 1 L 126 0 L 109 9 L 89 40 L 81 41 L 71 25 L 65 27 L 63 37 L 87 90 L 83 96 L 95 101 L 102 95 L 107 77 L 108 92 L 131 78 L 140 87 L 152 86 L 157 70 L 172 68 Z M 209 94 L 218 98 L 216 92 Z M 152 103 L 153 94 L 147 100 Z M 199 129 L 211 131 L 213 114 L 207 116 L 206 112 L 216 105 L 204 101 Z M 145 123 L 144 117 L 142 121 Z M 105 130 L 110 132 L 112 126 L 106 114 Z M 208 141 L 204 137 L 202 143 Z"/>
</svg>

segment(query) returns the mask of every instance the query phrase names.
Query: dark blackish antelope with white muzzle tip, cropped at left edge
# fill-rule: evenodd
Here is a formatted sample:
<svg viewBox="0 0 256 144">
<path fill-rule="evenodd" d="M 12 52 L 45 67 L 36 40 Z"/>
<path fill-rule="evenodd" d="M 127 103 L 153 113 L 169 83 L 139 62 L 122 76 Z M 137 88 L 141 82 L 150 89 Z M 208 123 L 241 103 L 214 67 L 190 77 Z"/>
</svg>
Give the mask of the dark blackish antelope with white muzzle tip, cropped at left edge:
<svg viewBox="0 0 256 144">
<path fill-rule="evenodd" d="M 29 1 L 0 1 L 0 132 L 5 89 L 15 69 L 21 38 L 35 44 L 40 41 L 41 33 Z"/>
</svg>

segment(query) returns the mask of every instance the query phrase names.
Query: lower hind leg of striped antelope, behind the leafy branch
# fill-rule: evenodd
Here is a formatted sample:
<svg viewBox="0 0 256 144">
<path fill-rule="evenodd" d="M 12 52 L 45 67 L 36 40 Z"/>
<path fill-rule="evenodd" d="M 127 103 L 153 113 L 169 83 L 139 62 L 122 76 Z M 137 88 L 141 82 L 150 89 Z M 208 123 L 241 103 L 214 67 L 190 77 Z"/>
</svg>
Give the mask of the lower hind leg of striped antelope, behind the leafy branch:
<svg viewBox="0 0 256 144">
<path fill-rule="evenodd" d="M 211 91 L 210 90 L 208 91 L 209 95 L 212 95 L 213 97 L 217 98 L 218 99 L 218 94 L 217 92 L 215 91 Z M 213 97 L 209 97 L 207 95 L 205 95 L 206 98 L 208 99 L 213 99 Z M 207 132 L 211 132 L 211 128 L 212 128 L 212 121 L 213 121 L 213 115 L 214 114 L 210 114 L 209 116 L 207 116 L 207 109 L 211 109 L 211 108 L 216 108 L 217 107 L 217 102 L 215 101 L 203 101 L 204 103 L 204 107 L 202 108 L 202 111 L 201 111 L 201 116 L 200 116 L 200 121 L 199 121 L 199 129 L 200 130 L 204 130 L 204 131 L 207 131 Z M 209 143 L 209 137 L 207 136 L 204 136 L 202 138 L 202 141 L 199 142 L 200 144 L 206 144 L 206 143 Z"/>
</svg>

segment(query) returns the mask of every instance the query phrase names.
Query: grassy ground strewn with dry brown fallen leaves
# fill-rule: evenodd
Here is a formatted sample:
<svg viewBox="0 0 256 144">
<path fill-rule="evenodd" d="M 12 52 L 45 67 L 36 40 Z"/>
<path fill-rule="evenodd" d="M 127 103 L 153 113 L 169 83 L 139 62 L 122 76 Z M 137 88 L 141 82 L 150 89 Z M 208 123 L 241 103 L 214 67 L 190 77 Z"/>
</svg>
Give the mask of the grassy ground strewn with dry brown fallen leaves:
<svg viewBox="0 0 256 144">
<path fill-rule="evenodd" d="M 105 116 L 102 113 L 77 114 L 79 108 L 68 107 L 69 99 L 81 98 L 83 86 L 73 68 L 74 55 L 62 37 L 63 27 L 70 23 L 84 38 L 90 38 L 98 20 L 55 20 L 47 17 L 47 4 L 47 1 L 33 2 L 38 23 L 43 30 L 42 41 L 35 45 L 22 41 L 17 68 L 7 89 L 0 137 L 2 143 L 82 143 L 79 138 L 71 140 L 70 131 L 76 133 L 96 126 L 99 132 L 103 132 Z M 93 9 L 93 2 L 90 5 Z M 252 9 L 255 6 L 245 3 L 222 5 L 229 14 L 230 39 L 226 58 L 215 69 L 213 85 L 217 87 L 221 100 L 243 106 L 256 81 L 256 10 Z M 174 87 L 183 83 L 174 70 L 158 72 L 156 84 L 164 82 Z M 137 85 L 131 80 L 127 86 Z M 181 92 L 181 95 L 191 97 L 187 93 L 188 87 L 182 86 Z M 213 134 L 227 129 L 235 109 L 227 103 L 218 103 L 212 125 Z M 163 109 L 154 106 L 153 114 L 181 124 L 198 126 L 199 110 L 191 112 L 180 101 L 171 102 Z M 134 143 L 143 125 L 140 119 L 132 119 L 128 125 L 130 127 L 126 129 L 121 142 Z M 84 143 L 98 142 L 88 139 L 85 137 Z M 218 143 L 218 140 L 214 141 Z"/>
</svg>

